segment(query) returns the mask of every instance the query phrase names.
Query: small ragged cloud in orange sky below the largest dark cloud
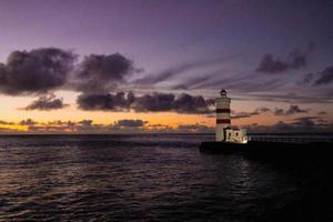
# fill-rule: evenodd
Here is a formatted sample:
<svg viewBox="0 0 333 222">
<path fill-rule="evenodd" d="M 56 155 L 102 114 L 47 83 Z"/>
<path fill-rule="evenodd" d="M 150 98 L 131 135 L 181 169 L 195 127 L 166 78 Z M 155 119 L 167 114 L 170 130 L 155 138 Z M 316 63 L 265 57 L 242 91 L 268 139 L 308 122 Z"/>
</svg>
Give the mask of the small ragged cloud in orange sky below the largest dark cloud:
<svg viewBox="0 0 333 222">
<path fill-rule="evenodd" d="M 63 103 L 62 98 L 56 98 L 54 94 L 42 95 L 38 100 L 32 101 L 29 105 L 23 108 L 24 110 L 59 110 L 68 107 L 69 104 Z"/>
</svg>

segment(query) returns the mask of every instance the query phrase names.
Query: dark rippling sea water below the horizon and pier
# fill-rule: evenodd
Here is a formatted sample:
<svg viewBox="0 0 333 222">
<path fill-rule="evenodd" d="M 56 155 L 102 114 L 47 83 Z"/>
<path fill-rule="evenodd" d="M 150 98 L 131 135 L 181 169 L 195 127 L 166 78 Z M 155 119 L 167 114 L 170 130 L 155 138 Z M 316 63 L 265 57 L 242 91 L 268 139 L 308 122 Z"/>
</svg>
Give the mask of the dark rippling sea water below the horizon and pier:
<svg viewBox="0 0 333 222">
<path fill-rule="evenodd" d="M 212 139 L 0 137 L 0 221 L 332 219 L 331 169 L 200 153 Z"/>
</svg>

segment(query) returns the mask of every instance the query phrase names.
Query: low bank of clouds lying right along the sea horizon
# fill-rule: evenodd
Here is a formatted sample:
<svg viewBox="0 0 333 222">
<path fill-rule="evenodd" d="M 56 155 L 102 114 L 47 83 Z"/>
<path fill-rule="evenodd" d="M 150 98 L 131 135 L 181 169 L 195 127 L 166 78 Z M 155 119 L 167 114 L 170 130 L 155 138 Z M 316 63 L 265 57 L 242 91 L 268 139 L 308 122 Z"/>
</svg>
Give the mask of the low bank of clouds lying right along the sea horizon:
<svg viewBox="0 0 333 222">
<path fill-rule="evenodd" d="M 17 123 L 14 123 L 17 124 Z M 31 119 L 22 120 L 18 124 L 27 125 L 27 131 L 7 127 L 0 127 L 1 133 L 213 133 L 214 127 L 201 123 L 180 124 L 171 128 L 165 124 L 149 124 L 148 121 L 140 119 L 123 119 L 114 121 L 111 124 L 94 124 L 92 120 L 85 119 L 78 122 L 71 121 L 50 121 L 39 122 Z M 295 118 L 292 122 L 279 121 L 272 125 L 240 125 L 246 128 L 249 132 L 256 133 L 287 133 L 287 132 L 332 132 L 333 122 L 319 117 Z"/>
</svg>

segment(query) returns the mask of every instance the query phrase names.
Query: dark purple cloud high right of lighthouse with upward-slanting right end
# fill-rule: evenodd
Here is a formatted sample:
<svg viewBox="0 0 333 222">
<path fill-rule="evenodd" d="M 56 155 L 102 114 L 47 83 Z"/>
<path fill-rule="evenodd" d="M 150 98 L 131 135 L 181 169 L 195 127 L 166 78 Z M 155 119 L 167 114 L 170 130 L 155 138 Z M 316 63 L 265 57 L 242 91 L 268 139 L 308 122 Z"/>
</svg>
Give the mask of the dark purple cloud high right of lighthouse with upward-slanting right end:
<svg viewBox="0 0 333 222">
<path fill-rule="evenodd" d="M 295 49 L 289 53 L 285 60 L 274 58 L 272 54 L 264 54 L 261 59 L 256 72 L 263 73 L 280 73 L 290 69 L 300 69 L 309 63 L 310 53 L 313 51 L 314 44 L 309 43 L 305 50 Z"/>
</svg>

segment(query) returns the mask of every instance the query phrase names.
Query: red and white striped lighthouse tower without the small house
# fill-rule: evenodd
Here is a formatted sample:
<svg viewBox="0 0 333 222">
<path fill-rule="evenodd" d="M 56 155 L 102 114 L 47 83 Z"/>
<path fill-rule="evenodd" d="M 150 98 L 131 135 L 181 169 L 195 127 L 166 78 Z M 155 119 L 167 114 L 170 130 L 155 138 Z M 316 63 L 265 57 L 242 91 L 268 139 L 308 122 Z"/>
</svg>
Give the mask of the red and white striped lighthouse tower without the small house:
<svg viewBox="0 0 333 222">
<path fill-rule="evenodd" d="M 216 98 L 216 141 L 225 141 L 225 128 L 231 127 L 230 120 L 230 98 L 226 97 L 226 91 L 221 90 Z"/>
</svg>

